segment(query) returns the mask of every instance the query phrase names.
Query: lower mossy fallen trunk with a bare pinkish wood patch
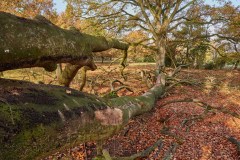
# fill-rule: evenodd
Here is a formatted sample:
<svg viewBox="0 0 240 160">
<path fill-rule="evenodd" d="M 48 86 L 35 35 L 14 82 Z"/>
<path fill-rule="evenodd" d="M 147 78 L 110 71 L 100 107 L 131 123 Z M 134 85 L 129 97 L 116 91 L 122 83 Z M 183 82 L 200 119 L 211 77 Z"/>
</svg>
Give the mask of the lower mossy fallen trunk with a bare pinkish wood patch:
<svg viewBox="0 0 240 160">
<path fill-rule="evenodd" d="M 164 93 L 158 84 L 137 97 L 104 100 L 65 87 L 0 79 L 0 157 L 41 158 L 117 133 L 150 111 Z"/>
</svg>

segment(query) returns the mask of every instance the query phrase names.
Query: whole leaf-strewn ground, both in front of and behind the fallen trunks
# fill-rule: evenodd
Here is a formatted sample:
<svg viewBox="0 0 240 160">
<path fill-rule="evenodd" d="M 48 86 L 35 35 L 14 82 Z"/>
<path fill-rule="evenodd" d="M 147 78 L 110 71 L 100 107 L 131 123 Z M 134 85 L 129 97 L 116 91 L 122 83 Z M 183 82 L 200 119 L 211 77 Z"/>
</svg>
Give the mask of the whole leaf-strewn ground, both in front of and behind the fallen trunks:
<svg viewBox="0 0 240 160">
<path fill-rule="evenodd" d="M 150 64 L 130 65 L 125 70 L 127 81 L 124 81 L 118 66 L 100 65 L 98 70 L 88 72 L 84 91 L 102 96 L 110 92 L 110 83 L 118 79 L 134 91 L 123 89 L 119 96 L 140 95 L 152 85 L 151 80 L 148 83 L 142 80 L 140 72 L 144 70 L 152 75 L 152 69 L 154 65 Z M 35 70 L 23 71 L 28 73 L 27 76 L 13 72 L 4 73 L 4 77 L 21 79 L 19 76 L 22 76 L 30 81 L 40 79 L 44 83 L 56 83 L 54 74 L 43 71 L 43 74 Z M 76 76 L 72 88 L 78 89 L 79 78 Z M 171 81 L 180 82 L 158 100 L 151 112 L 135 117 L 118 134 L 102 142 L 103 148 L 113 157 L 126 157 L 160 140 L 155 150 L 143 159 L 239 160 L 237 146 L 229 141 L 229 137 L 240 141 L 240 71 L 183 69 Z M 88 142 L 47 159 L 81 160 L 92 159 L 95 155 L 95 143 Z"/>
</svg>

